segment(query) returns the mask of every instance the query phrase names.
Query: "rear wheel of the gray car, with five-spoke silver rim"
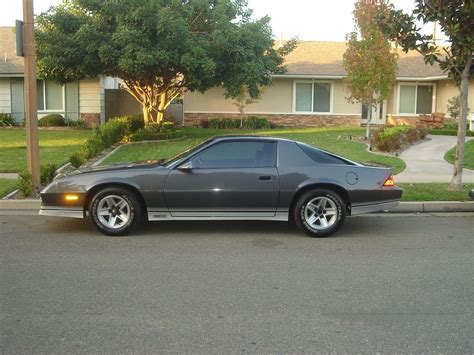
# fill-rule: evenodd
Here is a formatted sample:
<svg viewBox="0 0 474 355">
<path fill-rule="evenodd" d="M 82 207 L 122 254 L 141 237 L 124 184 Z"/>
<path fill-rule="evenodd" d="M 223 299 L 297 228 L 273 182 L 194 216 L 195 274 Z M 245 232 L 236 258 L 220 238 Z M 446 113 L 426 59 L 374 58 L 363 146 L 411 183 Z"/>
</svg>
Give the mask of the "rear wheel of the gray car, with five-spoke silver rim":
<svg viewBox="0 0 474 355">
<path fill-rule="evenodd" d="M 313 204 L 313 202 L 319 201 L 324 202 L 324 207 Z M 293 210 L 293 218 L 298 228 L 309 236 L 324 238 L 336 233 L 341 228 L 346 218 L 346 211 L 347 206 L 344 200 L 336 192 L 327 189 L 314 189 L 305 192 L 298 199 Z M 315 221 L 311 224 L 313 218 Z"/>
</svg>

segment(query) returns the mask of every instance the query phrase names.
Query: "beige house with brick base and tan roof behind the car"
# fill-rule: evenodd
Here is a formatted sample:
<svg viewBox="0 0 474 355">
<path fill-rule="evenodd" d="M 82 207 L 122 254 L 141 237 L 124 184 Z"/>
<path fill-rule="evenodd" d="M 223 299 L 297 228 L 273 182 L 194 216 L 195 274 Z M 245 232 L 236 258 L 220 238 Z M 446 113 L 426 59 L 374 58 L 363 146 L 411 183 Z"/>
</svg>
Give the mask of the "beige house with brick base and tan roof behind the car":
<svg viewBox="0 0 474 355">
<path fill-rule="evenodd" d="M 349 103 L 343 84 L 344 42 L 300 42 L 286 58 L 287 73 L 274 75 L 258 103 L 248 105 L 246 114 L 266 117 L 282 126 L 360 125 L 367 110 Z M 397 83 L 392 95 L 374 108 L 373 124 L 414 123 L 420 114 L 447 113 L 448 100 L 459 90 L 438 65 L 426 65 L 413 51 L 398 51 Z M 474 107 L 474 81 L 469 87 L 469 106 Z M 184 124 L 199 125 L 209 118 L 238 115 L 222 87 L 184 96 Z"/>
</svg>

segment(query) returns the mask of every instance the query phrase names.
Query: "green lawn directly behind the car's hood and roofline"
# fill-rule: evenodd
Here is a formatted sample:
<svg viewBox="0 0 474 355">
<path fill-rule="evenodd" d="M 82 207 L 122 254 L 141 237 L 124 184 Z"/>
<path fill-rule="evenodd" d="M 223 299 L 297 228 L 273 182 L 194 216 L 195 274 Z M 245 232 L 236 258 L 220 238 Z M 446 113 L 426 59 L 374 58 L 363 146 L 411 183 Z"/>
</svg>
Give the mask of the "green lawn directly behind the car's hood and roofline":
<svg viewBox="0 0 474 355">
<path fill-rule="evenodd" d="M 349 135 L 363 136 L 364 128 L 290 128 L 259 131 L 184 128 L 183 133 L 185 138 L 172 142 L 142 143 L 122 147 L 103 164 L 170 157 L 216 135 L 259 134 L 295 139 L 359 162 L 392 166 L 395 174 L 405 169 L 405 163 L 401 159 L 370 153 L 365 144 L 347 139 Z"/>
</svg>

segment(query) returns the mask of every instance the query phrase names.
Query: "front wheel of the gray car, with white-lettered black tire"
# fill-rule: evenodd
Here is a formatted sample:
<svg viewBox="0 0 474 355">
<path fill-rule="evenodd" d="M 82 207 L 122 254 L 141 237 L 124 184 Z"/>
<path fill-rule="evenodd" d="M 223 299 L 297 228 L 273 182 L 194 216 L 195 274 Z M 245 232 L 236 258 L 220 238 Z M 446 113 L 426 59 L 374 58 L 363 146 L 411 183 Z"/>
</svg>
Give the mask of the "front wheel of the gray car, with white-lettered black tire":
<svg viewBox="0 0 474 355">
<path fill-rule="evenodd" d="M 114 201 L 117 205 L 109 206 L 107 201 Z M 120 206 L 123 206 L 123 210 L 120 209 Z M 102 207 L 101 210 L 109 208 L 110 216 L 99 216 L 99 207 Z M 120 187 L 109 187 L 100 190 L 94 195 L 89 205 L 89 215 L 97 229 L 105 235 L 113 237 L 124 236 L 128 235 L 139 224 L 142 208 L 133 192 Z M 116 219 L 112 223 L 111 218 L 113 217 Z M 107 225 L 107 222 L 110 225 L 114 224 L 114 227 Z"/>
</svg>

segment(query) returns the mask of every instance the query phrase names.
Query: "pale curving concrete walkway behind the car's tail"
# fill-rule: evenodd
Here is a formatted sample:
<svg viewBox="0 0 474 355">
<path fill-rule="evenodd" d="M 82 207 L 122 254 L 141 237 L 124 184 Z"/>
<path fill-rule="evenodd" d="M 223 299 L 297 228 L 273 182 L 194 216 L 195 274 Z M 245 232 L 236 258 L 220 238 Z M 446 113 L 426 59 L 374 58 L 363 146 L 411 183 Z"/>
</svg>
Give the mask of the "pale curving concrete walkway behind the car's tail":
<svg viewBox="0 0 474 355">
<path fill-rule="evenodd" d="M 406 169 L 398 174 L 396 182 L 450 182 L 453 165 L 444 160 L 446 152 L 454 147 L 457 137 L 428 135 L 431 140 L 414 145 L 400 155 Z M 471 140 L 473 137 L 468 137 Z M 474 183 L 474 170 L 463 170 L 463 181 Z"/>
</svg>

